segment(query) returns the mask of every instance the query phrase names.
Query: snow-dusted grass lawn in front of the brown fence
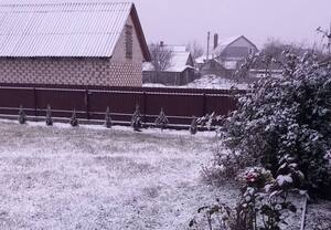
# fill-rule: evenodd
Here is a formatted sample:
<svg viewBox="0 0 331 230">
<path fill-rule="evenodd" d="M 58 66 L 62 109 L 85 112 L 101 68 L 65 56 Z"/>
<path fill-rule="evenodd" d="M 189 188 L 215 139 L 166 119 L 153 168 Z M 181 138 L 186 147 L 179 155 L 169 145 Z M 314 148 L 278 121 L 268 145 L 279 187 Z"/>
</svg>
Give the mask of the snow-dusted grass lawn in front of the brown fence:
<svg viewBox="0 0 331 230">
<path fill-rule="evenodd" d="M 236 190 L 201 180 L 213 134 L 0 121 L 0 229 L 186 229 Z"/>
</svg>

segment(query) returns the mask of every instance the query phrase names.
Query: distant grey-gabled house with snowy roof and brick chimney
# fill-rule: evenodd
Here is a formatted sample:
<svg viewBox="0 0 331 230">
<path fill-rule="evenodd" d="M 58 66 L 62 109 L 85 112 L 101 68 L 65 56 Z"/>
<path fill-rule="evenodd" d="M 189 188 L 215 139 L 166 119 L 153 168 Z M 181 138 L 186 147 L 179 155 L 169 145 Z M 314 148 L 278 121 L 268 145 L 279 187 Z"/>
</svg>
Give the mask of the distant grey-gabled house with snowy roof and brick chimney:
<svg viewBox="0 0 331 230">
<path fill-rule="evenodd" d="M 215 34 L 214 46 L 209 56 L 204 54 L 195 60 L 195 62 L 200 63 L 202 74 L 215 72 L 213 66 L 217 63 L 217 65 L 221 64 L 223 69 L 218 67 L 221 71 L 215 74 L 222 76 L 226 74 L 229 76 L 228 74 L 234 73 L 249 54 L 255 54 L 257 52 L 257 46 L 244 35 L 232 36 L 218 42 L 218 35 Z M 211 60 L 214 61 L 209 63 Z"/>
</svg>

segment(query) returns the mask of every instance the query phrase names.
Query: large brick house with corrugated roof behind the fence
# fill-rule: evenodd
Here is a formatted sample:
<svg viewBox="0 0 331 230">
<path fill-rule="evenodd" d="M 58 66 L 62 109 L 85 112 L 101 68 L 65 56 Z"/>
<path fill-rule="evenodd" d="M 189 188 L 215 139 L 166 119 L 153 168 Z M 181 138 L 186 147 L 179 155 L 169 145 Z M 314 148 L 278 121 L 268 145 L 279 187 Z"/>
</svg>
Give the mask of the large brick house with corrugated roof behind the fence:
<svg viewBox="0 0 331 230">
<path fill-rule="evenodd" d="M 143 61 L 134 3 L 0 6 L 0 83 L 141 86 Z"/>
</svg>

